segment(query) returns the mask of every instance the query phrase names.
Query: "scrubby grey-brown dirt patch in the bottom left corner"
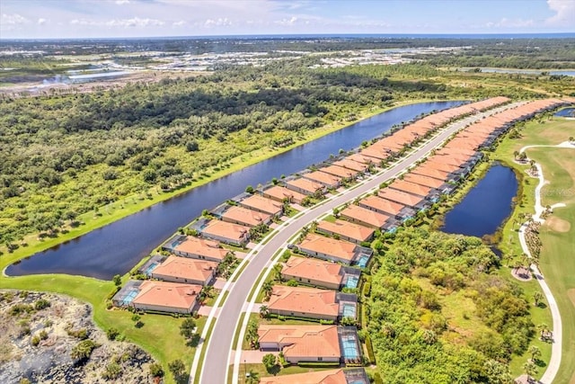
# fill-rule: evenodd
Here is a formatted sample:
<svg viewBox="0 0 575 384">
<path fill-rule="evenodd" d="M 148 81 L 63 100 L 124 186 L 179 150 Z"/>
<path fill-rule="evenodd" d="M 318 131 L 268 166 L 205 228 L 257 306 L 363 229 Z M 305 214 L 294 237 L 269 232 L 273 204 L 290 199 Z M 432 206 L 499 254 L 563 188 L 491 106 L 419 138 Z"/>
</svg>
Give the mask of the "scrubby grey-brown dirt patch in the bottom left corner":
<svg viewBox="0 0 575 384">
<path fill-rule="evenodd" d="M 91 353 L 78 357 L 79 346 L 87 344 Z M 79 300 L 0 291 L 2 383 L 147 383 L 154 382 L 152 362 L 137 345 L 108 340 L 93 324 L 92 307 Z"/>
</svg>

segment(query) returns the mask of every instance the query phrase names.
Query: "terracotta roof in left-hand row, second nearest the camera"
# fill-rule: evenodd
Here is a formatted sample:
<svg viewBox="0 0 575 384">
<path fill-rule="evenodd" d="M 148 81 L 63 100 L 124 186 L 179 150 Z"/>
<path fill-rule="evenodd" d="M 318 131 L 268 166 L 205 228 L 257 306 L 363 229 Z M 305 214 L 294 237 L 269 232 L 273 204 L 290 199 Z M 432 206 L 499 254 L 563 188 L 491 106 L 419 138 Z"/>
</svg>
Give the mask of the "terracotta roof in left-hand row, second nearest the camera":
<svg viewBox="0 0 575 384">
<path fill-rule="evenodd" d="M 207 281 L 216 268 L 215 262 L 169 256 L 164 263 L 155 267 L 152 277 L 157 279 L 160 278 L 159 276 L 172 276 L 180 279 Z"/>
</svg>

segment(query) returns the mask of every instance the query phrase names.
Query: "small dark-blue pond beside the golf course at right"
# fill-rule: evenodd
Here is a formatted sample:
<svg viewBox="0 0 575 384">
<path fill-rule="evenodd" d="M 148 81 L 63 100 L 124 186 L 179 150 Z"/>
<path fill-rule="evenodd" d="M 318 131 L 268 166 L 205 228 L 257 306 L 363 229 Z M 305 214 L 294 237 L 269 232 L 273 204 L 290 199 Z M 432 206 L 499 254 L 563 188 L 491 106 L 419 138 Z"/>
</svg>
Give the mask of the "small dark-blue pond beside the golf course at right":
<svg viewBox="0 0 575 384">
<path fill-rule="evenodd" d="M 464 200 L 447 212 L 442 231 L 483 237 L 494 234 L 511 214 L 517 177 L 508 166 L 491 165 Z"/>
</svg>

